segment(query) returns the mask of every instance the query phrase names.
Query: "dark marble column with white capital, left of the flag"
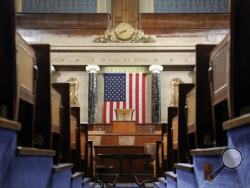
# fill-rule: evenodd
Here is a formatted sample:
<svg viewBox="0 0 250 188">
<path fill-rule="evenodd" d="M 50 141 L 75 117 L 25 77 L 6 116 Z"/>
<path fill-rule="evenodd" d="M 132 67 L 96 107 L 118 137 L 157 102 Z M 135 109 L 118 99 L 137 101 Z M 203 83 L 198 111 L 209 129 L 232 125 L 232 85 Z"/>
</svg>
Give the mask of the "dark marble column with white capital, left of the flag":
<svg viewBox="0 0 250 188">
<path fill-rule="evenodd" d="M 98 72 L 100 71 L 100 67 L 97 65 L 88 65 L 86 71 L 89 73 L 88 122 L 95 123 L 97 120 Z"/>
</svg>

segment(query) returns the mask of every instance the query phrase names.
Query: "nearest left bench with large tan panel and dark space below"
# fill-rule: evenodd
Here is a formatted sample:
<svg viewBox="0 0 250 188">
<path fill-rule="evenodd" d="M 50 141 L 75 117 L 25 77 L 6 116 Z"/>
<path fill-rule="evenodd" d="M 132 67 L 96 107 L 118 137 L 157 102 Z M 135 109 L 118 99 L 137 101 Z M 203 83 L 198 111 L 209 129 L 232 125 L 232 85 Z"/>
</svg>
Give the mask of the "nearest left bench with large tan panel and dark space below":
<svg viewBox="0 0 250 188">
<path fill-rule="evenodd" d="M 18 121 L 23 128 L 18 134 L 18 144 L 33 146 L 34 112 L 37 82 L 37 59 L 35 50 L 20 35 L 16 35 L 16 78 Z M 14 85 L 15 86 L 15 85 Z M 13 87 L 14 87 L 13 86 Z"/>
</svg>

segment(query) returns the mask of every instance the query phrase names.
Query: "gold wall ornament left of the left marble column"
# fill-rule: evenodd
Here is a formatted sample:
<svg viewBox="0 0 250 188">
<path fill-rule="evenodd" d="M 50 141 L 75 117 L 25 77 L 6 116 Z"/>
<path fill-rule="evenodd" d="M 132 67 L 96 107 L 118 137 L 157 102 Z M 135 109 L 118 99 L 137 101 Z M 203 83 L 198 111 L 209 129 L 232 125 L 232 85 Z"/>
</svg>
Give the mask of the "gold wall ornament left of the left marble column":
<svg viewBox="0 0 250 188">
<path fill-rule="evenodd" d="M 80 83 L 74 77 L 69 78 L 67 82 L 70 84 L 70 105 L 79 106 L 80 103 L 78 100 L 78 90 L 79 90 Z"/>
</svg>

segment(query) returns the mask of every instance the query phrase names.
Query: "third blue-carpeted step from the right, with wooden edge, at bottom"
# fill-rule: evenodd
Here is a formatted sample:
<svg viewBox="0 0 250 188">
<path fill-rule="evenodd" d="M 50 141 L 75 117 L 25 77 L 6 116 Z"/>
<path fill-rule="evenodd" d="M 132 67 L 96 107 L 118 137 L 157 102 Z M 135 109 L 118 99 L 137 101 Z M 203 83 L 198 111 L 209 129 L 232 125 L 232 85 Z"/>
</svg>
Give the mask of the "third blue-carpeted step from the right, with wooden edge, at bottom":
<svg viewBox="0 0 250 188">
<path fill-rule="evenodd" d="M 194 188 L 197 186 L 196 177 L 194 174 L 194 166 L 188 163 L 176 163 L 174 164 L 177 174 L 178 187 Z"/>
</svg>

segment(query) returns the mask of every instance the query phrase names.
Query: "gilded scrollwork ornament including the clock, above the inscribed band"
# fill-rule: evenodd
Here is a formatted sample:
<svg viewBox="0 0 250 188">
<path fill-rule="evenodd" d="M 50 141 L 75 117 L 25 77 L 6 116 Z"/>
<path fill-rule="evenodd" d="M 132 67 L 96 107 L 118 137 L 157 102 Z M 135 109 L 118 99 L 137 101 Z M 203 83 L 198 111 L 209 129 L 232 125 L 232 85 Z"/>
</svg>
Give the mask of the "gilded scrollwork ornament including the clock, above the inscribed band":
<svg viewBox="0 0 250 188">
<path fill-rule="evenodd" d="M 120 23 L 115 28 L 107 29 L 103 35 L 94 39 L 96 43 L 155 43 L 154 35 L 146 35 L 141 29 L 133 28 L 128 23 Z"/>
</svg>

